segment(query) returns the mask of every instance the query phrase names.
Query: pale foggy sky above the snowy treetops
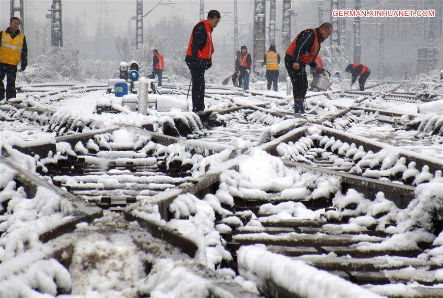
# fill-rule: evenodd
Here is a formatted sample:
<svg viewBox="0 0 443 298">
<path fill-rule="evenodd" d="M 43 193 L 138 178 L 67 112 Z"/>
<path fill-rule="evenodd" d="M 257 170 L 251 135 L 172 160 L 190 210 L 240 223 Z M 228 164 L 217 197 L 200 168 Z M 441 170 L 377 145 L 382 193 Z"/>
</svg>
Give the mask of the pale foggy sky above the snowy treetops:
<svg viewBox="0 0 443 298">
<path fill-rule="evenodd" d="M 19 0 L 15 0 L 17 3 Z M 189 20 L 191 23 L 199 21 L 199 0 L 163 0 L 162 3 L 172 2 L 169 6 L 158 5 L 147 17 L 144 18 L 144 28 L 155 24 L 163 16 L 180 16 Z M 249 24 L 253 20 L 253 0 L 238 0 L 238 16 L 239 25 L 246 30 L 249 29 Z M 51 8 L 52 0 L 24 0 L 25 6 L 25 33 L 26 33 L 26 18 L 33 17 L 39 20 L 44 20 L 45 15 L 49 14 L 48 9 Z M 131 16 L 135 15 L 135 0 L 62 0 L 63 20 L 80 17 L 86 26 L 93 26 L 103 20 L 112 22 L 115 25 L 126 27 Z M 158 0 L 144 0 L 143 13 L 147 13 L 158 3 Z M 225 35 L 232 34 L 234 17 L 234 1 L 233 0 L 205 0 L 205 12 L 210 9 L 217 9 L 221 12 L 222 19 L 219 26 L 214 32 L 214 39 L 221 39 Z M 267 4 L 269 5 L 269 3 Z M 302 27 L 312 27 L 316 24 L 316 9 L 318 1 L 315 0 L 297 0 L 293 1 L 295 9 L 301 10 L 299 15 L 299 25 Z M 1 29 L 8 27 L 9 24 L 9 6 L 10 0 L 0 0 L 0 27 Z M 277 7 L 282 7 L 282 1 L 277 0 Z M 205 15 L 206 15 L 205 13 Z M 226 13 L 228 13 L 226 15 Z M 281 19 L 281 9 L 277 10 L 277 18 Z M 306 17 L 310 16 L 309 19 Z M 49 24 L 49 20 L 48 20 Z M 131 26 L 135 28 L 135 21 L 131 21 Z M 246 25 L 246 27 L 245 27 Z M 278 23 L 278 27 L 281 27 Z M 293 27 L 293 34 L 295 34 Z M 135 30 L 135 29 L 134 29 Z M 135 32 L 134 32 L 135 34 Z M 186 32 L 188 34 L 188 32 Z"/>
</svg>

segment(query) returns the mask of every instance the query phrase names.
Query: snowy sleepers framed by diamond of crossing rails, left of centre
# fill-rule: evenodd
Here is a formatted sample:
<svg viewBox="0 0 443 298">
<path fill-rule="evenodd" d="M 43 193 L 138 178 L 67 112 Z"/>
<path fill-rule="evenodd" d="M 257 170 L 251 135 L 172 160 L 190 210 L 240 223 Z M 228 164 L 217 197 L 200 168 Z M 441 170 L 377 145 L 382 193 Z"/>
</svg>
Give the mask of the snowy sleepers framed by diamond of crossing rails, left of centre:
<svg viewBox="0 0 443 298">
<path fill-rule="evenodd" d="M 119 144 L 118 138 L 123 137 L 122 134 L 136 135 L 135 144 Z M 212 145 L 210 150 L 198 149 L 199 144 L 205 143 L 186 143 L 184 139 L 124 127 L 123 130 L 113 128 L 57 137 L 55 146 L 50 143 L 33 147 L 24 144 L 15 148 L 48 156 L 39 160 L 36 171 L 50 178 L 54 185 L 83 197 L 87 202 L 116 211 L 138 199 L 192 184 L 192 168 L 198 170 L 197 161 L 223 150 L 227 152 L 222 155 L 229 156 L 232 151 L 222 145 Z M 188 148 L 185 152 L 174 153 L 185 148 Z"/>
</svg>

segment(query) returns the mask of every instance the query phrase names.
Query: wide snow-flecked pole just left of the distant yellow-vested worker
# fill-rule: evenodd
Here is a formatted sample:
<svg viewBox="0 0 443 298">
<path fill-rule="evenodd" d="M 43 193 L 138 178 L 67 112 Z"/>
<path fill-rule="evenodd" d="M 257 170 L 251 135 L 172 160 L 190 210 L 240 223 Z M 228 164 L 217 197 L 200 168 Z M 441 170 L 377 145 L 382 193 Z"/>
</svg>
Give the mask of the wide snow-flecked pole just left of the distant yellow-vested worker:
<svg viewBox="0 0 443 298">
<path fill-rule="evenodd" d="M 263 63 L 266 43 L 266 11 L 265 0 L 254 0 L 254 40 L 253 40 L 253 71 L 258 71 Z"/>
</svg>

